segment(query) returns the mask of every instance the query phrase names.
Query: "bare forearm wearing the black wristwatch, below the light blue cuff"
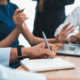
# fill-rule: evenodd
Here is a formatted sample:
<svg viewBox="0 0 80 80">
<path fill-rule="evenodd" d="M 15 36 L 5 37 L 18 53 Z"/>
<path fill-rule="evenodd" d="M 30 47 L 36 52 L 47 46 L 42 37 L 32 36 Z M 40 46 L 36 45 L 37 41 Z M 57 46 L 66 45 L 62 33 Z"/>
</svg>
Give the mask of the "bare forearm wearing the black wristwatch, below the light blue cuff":
<svg viewBox="0 0 80 80">
<path fill-rule="evenodd" d="M 29 52 L 30 48 L 22 48 L 21 53 L 23 58 L 28 58 L 29 57 Z M 17 48 L 12 48 L 10 52 L 10 63 L 18 61 L 18 53 L 17 53 Z"/>
</svg>

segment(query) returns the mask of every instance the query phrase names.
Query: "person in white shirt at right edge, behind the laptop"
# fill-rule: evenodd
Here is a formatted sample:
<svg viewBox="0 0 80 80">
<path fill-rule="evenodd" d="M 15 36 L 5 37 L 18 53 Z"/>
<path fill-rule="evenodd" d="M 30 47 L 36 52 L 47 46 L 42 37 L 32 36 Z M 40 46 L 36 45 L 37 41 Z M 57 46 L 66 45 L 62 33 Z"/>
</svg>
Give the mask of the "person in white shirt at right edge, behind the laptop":
<svg viewBox="0 0 80 80">
<path fill-rule="evenodd" d="M 69 42 L 80 42 L 80 7 L 75 8 L 71 14 L 66 18 L 63 24 L 61 24 L 55 31 L 55 37 L 57 34 L 61 31 L 61 29 L 66 25 L 68 22 L 71 22 L 71 24 L 68 26 L 70 27 L 71 25 L 74 25 L 74 31 L 70 33 L 65 41 Z M 76 32 L 77 26 L 79 27 L 78 32 Z"/>
</svg>

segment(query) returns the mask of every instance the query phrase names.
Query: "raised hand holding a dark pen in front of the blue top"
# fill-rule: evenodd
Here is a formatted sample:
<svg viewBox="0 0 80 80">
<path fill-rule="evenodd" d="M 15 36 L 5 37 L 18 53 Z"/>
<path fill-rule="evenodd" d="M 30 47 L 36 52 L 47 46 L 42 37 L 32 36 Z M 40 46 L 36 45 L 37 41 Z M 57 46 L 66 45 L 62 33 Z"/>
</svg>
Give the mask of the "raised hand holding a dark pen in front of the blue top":
<svg viewBox="0 0 80 80">
<path fill-rule="evenodd" d="M 19 13 L 20 9 L 16 9 L 13 15 L 13 21 L 16 24 L 17 29 L 22 32 L 25 30 L 24 21 L 28 19 L 24 13 Z"/>
</svg>

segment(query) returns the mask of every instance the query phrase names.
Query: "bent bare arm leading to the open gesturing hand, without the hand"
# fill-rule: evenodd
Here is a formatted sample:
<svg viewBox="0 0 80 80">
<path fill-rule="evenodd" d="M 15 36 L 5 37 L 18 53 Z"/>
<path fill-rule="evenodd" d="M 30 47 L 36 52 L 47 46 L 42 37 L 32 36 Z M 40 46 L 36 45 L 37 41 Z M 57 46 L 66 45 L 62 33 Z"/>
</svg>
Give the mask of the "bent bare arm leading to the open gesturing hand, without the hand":
<svg viewBox="0 0 80 80">
<path fill-rule="evenodd" d="M 25 24 L 25 23 L 24 23 Z M 35 37 L 28 29 L 27 25 L 25 24 L 25 30 L 23 31 L 23 35 L 26 38 L 26 40 L 28 40 L 28 42 L 30 43 L 30 45 L 34 46 L 37 45 L 41 42 L 44 42 L 43 38 L 38 38 Z M 48 39 L 49 43 L 55 43 L 56 39 Z"/>
</svg>

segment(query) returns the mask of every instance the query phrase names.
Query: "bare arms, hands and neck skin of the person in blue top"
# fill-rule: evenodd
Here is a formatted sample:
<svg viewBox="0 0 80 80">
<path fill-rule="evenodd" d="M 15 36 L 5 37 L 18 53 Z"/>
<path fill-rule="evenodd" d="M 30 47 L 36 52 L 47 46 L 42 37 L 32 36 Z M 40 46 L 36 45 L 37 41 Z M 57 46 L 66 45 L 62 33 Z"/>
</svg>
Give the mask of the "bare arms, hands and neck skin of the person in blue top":
<svg viewBox="0 0 80 80">
<path fill-rule="evenodd" d="M 7 0 L 0 0 L 0 3 L 3 2 L 4 5 L 6 5 Z M 30 43 L 30 45 L 34 46 L 37 45 L 41 42 L 44 42 L 44 39 L 42 38 L 38 38 L 35 37 L 28 29 L 27 25 L 25 24 L 25 20 L 28 19 L 28 17 L 24 14 L 24 13 L 18 13 L 20 11 L 20 9 L 16 9 L 14 15 L 13 15 L 13 21 L 16 24 L 16 29 L 18 29 L 23 36 L 26 38 L 26 40 L 28 40 L 28 42 Z M 67 32 L 69 31 L 69 29 L 67 31 L 66 28 L 70 25 L 70 23 L 68 23 L 67 25 L 64 26 L 63 30 L 60 32 L 60 34 L 57 36 L 57 38 L 53 38 L 53 39 L 48 39 L 49 43 L 60 43 L 60 42 L 64 42 L 66 36 L 68 35 Z M 66 28 L 65 28 L 66 27 Z M 73 27 L 73 26 L 72 26 Z M 71 28 L 72 28 L 71 27 Z M 14 31 L 14 30 L 13 30 Z M 72 30 L 73 31 L 73 30 Z M 71 31 L 71 32 L 72 32 Z M 6 38 L 4 40 L 2 40 L 0 42 L 0 47 L 10 47 L 13 42 L 16 40 L 16 38 L 18 37 L 18 35 L 20 34 L 20 32 L 14 31 L 13 33 L 16 33 L 17 35 L 14 36 L 14 38 L 12 38 L 12 36 L 9 36 L 6 40 Z M 70 33 L 71 33 L 70 32 Z M 10 34 L 12 35 L 12 34 Z M 14 34 L 13 34 L 14 35 Z M 64 38 L 62 39 L 62 37 L 64 36 Z M 8 41 L 10 40 L 10 41 Z M 7 41 L 7 42 L 6 42 Z M 3 45 L 4 43 L 4 45 Z M 7 44 L 6 44 L 7 43 Z M 5 45 L 6 44 L 6 45 Z"/>
</svg>

